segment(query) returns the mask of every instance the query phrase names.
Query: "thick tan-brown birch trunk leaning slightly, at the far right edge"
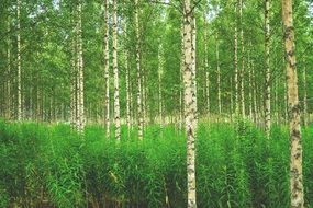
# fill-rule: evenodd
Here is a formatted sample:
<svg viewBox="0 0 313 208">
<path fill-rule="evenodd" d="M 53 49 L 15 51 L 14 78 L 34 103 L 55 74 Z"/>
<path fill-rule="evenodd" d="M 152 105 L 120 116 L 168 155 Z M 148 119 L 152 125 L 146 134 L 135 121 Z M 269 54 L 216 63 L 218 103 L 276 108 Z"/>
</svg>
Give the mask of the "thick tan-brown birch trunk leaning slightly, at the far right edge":
<svg viewBox="0 0 313 208">
<path fill-rule="evenodd" d="M 298 95 L 298 76 L 294 55 L 294 27 L 292 0 L 282 0 L 283 37 L 286 53 L 286 71 L 288 85 L 288 108 L 290 128 L 290 199 L 292 208 L 304 207 L 302 176 L 302 143 L 300 127 L 300 104 Z"/>
</svg>

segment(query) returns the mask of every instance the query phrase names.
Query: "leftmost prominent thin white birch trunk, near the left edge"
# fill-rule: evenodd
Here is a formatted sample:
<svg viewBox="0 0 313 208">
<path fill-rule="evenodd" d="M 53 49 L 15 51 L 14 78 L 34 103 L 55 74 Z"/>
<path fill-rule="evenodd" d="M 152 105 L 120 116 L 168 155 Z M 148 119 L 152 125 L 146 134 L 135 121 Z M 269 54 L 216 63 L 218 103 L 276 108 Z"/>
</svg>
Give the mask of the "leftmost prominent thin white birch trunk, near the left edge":
<svg viewBox="0 0 313 208">
<path fill-rule="evenodd" d="M 21 0 L 18 0 L 18 120 L 22 120 L 22 81 L 21 81 Z"/>
</svg>

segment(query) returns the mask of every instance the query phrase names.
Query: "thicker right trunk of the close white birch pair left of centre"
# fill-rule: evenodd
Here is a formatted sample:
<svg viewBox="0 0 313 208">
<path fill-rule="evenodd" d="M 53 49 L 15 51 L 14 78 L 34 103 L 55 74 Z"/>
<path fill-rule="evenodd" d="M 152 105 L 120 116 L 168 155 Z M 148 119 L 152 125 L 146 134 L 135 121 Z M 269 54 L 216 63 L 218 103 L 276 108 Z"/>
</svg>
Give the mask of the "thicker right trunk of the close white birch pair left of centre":
<svg viewBox="0 0 313 208">
<path fill-rule="evenodd" d="M 113 0 L 113 71 L 114 71 L 114 123 L 115 139 L 121 140 L 120 119 L 120 91 L 119 91 L 119 68 L 118 68 L 118 5 Z"/>
</svg>

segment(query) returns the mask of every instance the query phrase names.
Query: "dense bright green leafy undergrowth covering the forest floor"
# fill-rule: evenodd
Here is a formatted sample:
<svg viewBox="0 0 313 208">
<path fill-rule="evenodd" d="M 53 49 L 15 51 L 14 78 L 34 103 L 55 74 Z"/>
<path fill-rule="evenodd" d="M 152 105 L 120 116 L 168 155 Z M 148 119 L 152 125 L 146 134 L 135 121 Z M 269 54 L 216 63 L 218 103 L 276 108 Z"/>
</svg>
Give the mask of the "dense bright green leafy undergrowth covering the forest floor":
<svg viewBox="0 0 313 208">
<path fill-rule="evenodd" d="M 0 207 L 186 207 L 186 139 L 172 126 L 107 139 L 89 126 L 85 141 L 66 125 L 0 122 Z M 313 204 L 313 128 L 303 130 L 306 207 Z M 271 138 L 250 124 L 201 124 L 197 141 L 199 207 L 289 207 L 288 131 Z"/>
</svg>

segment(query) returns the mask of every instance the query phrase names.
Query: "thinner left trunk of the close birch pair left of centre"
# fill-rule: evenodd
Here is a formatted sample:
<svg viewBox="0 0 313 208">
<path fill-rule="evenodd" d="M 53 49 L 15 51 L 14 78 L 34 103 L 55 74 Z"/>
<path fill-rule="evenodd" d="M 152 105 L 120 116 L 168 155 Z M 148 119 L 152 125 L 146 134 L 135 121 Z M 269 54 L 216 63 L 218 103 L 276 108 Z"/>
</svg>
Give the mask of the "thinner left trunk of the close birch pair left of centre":
<svg viewBox="0 0 313 208">
<path fill-rule="evenodd" d="M 105 136 L 110 138 L 110 53 L 109 53 L 109 0 L 104 0 L 104 84 L 105 84 L 105 99 L 104 99 L 104 126 Z"/>
</svg>

